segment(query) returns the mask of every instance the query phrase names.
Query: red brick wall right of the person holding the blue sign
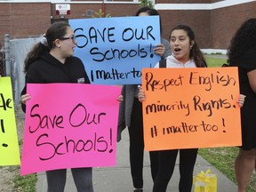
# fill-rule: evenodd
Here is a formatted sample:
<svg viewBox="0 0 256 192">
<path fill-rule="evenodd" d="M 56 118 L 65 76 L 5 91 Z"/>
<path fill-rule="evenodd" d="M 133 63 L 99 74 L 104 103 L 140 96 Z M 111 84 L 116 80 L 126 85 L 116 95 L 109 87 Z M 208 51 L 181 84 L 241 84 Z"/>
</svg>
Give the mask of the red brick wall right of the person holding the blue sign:
<svg viewBox="0 0 256 192">
<path fill-rule="evenodd" d="M 160 0 L 159 0 L 160 1 Z M 161 0 L 161 3 L 164 0 Z M 181 1 L 172 1 L 174 4 Z M 184 3 L 184 1 L 182 1 Z M 188 3 L 189 1 L 186 1 Z M 200 1 L 198 1 L 200 2 Z M 202 1 L 201 1 L 202 2 Z M 212 0 L 212 3 L 220 0 Z M 249 18 L 256 18 L 256 2 L 238 4 L 209 11 L 159 10 L 163 24 L 163 36 L 168 39 L 170 30 L 178 24 L 190 26 L 200 48 L 227 49 L 236 29 Z"/>
</svg>

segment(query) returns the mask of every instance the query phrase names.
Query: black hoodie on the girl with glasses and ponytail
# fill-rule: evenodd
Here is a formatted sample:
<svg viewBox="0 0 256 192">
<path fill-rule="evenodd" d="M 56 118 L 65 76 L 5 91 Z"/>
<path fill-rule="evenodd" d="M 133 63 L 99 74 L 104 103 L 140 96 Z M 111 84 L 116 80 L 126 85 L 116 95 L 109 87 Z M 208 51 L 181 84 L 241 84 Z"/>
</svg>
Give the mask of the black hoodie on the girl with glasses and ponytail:
<svg viewBox="0 0 256 192">
<path fill-rule="evenodd" d="M 90 84 L 85 72 L 82 60 L 76 57 L 69 57 L 65 63 L 54 58 L 49 52 L 40 56 L 39 60 L 31 63 L 26 74 L 26 85 L 21 95 L 26 93 L 27 84 L 51 84 L 51 83 L 79 83 Z M 21 103 L 23 111 L 25 105 Z"/>
</svg>

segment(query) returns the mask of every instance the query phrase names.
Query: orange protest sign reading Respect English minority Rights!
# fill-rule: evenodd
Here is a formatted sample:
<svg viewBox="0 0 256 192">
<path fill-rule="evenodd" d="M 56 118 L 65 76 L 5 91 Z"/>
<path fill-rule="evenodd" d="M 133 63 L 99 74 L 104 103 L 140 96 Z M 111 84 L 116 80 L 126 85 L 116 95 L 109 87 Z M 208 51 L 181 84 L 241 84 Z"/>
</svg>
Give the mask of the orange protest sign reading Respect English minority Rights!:
<svg viewBox="0 0 256 192">
<path fill-rule="evenodd" d="M 240 146 L 237 68 L 143 68 L 145 150 Z"/>
</svg>

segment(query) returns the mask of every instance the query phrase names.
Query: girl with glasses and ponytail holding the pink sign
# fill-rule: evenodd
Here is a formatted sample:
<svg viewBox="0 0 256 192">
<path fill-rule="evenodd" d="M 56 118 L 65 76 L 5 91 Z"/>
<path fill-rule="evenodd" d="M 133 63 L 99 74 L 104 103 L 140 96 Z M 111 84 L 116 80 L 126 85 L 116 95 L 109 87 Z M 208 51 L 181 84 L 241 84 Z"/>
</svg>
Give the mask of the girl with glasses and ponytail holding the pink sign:
<svg viewBox="0 0 256 192">
<path fill-rule="evenodd" d="M 55 22 L 47 29 L 41 42 L 36 44 L 25 60 L 26 84 L 81 83 L 90 84 L 82 60 L 73 56 L 76 38 L 66 22 Z M 21 106 L 26 110 L 26 101 L 31 99 L 21 92 Z M 122 100 L 118 97 L 117 100 Z M 72 168 L 78 192 L 93 192 L 92 167 Z M 67 169 L 46 172 L 48 192 L 63 192 Z"/>
</svg>

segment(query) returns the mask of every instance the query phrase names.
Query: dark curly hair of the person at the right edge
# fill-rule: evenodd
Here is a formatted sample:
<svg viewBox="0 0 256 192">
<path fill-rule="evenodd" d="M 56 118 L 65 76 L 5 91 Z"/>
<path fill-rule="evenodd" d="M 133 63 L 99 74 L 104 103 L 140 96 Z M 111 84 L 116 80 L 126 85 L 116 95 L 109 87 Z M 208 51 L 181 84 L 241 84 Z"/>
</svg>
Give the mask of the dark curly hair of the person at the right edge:
<svg viewBox="0 0 256 192">
<path fill-rule="evenodd" d="M 244 52 L 250 50 L 256 50 L 256 19 L 245 20 L 237 29 L 228 47 L 228 64 L 234 64 Z"/>
</svg>

